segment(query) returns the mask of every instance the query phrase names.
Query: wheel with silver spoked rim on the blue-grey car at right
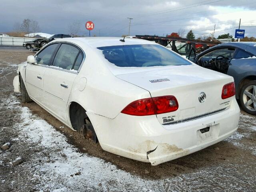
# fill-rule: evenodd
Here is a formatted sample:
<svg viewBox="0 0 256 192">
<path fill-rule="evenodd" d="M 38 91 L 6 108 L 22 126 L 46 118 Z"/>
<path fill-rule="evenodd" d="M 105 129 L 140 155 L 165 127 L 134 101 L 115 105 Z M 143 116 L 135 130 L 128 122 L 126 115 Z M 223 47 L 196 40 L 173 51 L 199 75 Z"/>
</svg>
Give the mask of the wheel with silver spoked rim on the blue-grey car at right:
<svg viewBox="0 0 256 192">
<path fill-rule="evenodd" d="M 245 112 L 256 115 L 256 80 L 249 81 L 242 87 L 240 103 Z"/>
</svg>

